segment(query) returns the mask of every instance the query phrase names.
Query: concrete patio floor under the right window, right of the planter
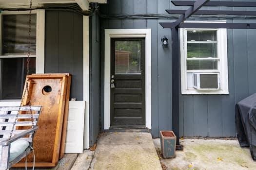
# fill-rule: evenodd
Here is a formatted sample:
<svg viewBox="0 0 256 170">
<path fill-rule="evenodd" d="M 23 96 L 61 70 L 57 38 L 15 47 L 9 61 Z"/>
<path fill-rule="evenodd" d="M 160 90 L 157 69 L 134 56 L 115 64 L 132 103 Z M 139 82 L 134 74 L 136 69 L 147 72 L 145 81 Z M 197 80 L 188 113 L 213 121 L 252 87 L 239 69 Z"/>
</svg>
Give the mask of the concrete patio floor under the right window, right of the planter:
<svg viewBox="0 0 256 170">
<path fill-rule="evenodd" d="M 184 139 L 183 151 L 176 158 L 161 159 L 167 170 L 256 170 L 248 148 L 240 148 L 237 140 Z M 160 139 L 154 139 L 158 153 Z"/>
</svg>

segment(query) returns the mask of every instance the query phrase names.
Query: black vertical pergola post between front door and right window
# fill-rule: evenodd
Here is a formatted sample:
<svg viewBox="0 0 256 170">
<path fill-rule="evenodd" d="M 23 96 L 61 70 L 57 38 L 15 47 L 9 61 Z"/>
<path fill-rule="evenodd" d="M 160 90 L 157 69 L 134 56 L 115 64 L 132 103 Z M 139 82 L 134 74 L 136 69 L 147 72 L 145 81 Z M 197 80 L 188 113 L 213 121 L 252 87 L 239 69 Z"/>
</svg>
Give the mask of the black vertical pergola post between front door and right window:
<svg viewBox="0 0 256 170">
<path fill-rule="evenodd" d="M 172 28 L 172 121 L 173 131 L 177 136 L 177 145 L 179 145 L 179 62 L 178 28 Z"/>
</svg>

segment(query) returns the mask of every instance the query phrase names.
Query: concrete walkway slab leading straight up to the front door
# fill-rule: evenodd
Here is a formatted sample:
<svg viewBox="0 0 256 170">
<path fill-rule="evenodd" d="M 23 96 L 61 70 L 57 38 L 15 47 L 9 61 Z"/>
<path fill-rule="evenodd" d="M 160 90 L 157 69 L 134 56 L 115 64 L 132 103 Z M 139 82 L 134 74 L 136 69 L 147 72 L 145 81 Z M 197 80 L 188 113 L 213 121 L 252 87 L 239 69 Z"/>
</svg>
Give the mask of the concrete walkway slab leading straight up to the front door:
<svg viewBox="0 0 256 170">
<path fill-rule="evenodd" d="M 85 153 L 83 154 L 85 157 Z M 73 170 L 82 170 L 75 162 Z M 78 169 L 77 169 L 77 168 Z M 85 166 L 84 170 L 86 170 Z M 90 170 L 162 170 L 150 133 L 104 133 L 97 142 L 97 149 Z"/>
</svg>

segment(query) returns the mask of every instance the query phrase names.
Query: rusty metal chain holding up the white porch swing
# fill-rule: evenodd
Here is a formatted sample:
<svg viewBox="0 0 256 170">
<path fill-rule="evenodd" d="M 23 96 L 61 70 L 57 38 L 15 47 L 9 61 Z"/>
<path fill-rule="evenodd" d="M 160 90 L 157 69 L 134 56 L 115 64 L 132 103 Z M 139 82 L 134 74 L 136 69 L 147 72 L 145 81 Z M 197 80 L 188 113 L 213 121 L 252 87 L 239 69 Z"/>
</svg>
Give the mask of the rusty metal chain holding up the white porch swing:
<svg viewBox="0 0 256 170">
<path fill-rule="evenodd" d="M 29 2 L 30 4 L 30 8 L 29 8 L 29 25 L 28 25 L 28 49 L 27 49 L 27 69 L 26 69 L 26 85 L 25 85 L 25 91 L 23 92 L 23 95 L 22 95 L 22 98 L 21 98 L 21 101 L 20 101 L 20 106 L 19 106 L 19 110 L 16 114 L 16 117 L 15 117 L 15 121 L 13 123 L 13 127 L 12 127 L 12 130 L 10 132 L 10 136 L 9 136 L 9 139 L 12 137 L 13 135 L 13 131 L 14 131 L 14 128 L 15 128 L 15 125 L 16 125 L 16 122 L 18 120 L 18 117 L 19 117 L 19 113 L 20 113 L 20 109 L 21 109 L 21 106 L 23 104 L 23 101 L 24 101 L 24 98 L 25 98 L 25 94 L 28 94 L 28 75 L 29 75 L 29 62 L 30 62 L 30 39 L 31 39 L 31 15 L 32 15 L 32 0 L 30 0 Z M 32 128 L 35 127 L 35 124 L 34 124 L 34 119 L 33 119 L 33 114 L 32 114 L 32 109 L 31 109 L 31 104 L 30 102 L 28 103 L 29 104 L 29 113 L 30 113 L 30 116 L 31 116 L 31 121 L 32 121 Z M 32 138 L 34 136 L 34 132 L 32 133 Z"/>
</svg>

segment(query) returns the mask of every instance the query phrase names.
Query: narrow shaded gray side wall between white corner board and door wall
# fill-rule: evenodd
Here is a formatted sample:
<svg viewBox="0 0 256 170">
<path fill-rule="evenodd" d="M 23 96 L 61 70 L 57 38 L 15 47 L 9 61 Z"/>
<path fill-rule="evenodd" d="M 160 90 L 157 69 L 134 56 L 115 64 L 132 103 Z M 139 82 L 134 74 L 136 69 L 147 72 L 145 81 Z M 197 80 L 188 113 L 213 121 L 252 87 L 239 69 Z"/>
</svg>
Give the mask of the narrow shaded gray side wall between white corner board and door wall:
<svg viewBox="0 0 256 170">
<path fill-rule="evenodd" d="M 100 131 L 100 20 L 90 17 L 90 145 Z"/>
</svg>

